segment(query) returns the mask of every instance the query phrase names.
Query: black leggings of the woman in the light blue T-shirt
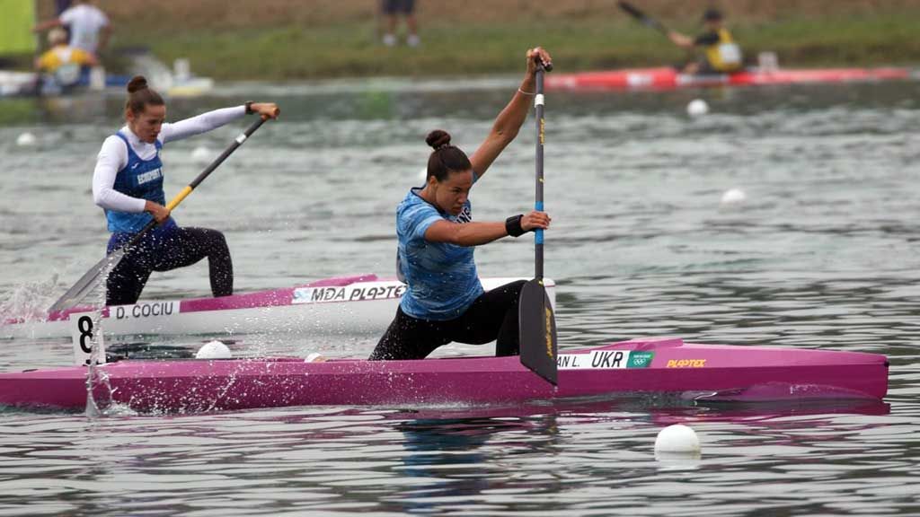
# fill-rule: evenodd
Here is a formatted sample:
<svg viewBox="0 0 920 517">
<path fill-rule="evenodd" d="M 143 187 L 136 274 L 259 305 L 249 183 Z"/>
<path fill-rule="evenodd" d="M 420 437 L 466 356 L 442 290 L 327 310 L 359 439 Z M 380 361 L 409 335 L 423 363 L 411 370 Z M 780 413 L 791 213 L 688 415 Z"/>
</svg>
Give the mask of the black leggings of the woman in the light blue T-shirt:
<svg viewBox="0 0 920 517">
<path fill-rule="evenodd" d="M 497 339 L 495 355 L 518 355 L 518 299 L 525 281 L 512 281 L 479 296 L 463 316 L 448 321 L 431 321 L 397 316 L 369 358 L 371 361 L 424 359 L 451 341 L 482 345 Z"/>
</svg>

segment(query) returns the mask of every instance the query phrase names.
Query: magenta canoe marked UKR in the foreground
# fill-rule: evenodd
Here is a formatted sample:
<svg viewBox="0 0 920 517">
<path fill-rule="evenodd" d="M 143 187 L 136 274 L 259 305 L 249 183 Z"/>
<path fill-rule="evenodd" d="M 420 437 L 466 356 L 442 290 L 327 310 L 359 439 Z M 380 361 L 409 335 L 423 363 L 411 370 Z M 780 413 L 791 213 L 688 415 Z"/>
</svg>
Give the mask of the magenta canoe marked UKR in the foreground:
<svg viewBox="0 0 920 517">
<path fill-rule="evenodd" d="M 123 361 L 98 367 L 94 396 L 137 411 L 287 406 L 482 405 L 617 394 L 727 401 L 880 400 L 884 356 L 636 339 L 558 357 L 558 387 L 517 357 L 305 362 L 299 358 Z M 0 404 L 84 408 L 87 368 L 0 373 Z"/>
</svg>

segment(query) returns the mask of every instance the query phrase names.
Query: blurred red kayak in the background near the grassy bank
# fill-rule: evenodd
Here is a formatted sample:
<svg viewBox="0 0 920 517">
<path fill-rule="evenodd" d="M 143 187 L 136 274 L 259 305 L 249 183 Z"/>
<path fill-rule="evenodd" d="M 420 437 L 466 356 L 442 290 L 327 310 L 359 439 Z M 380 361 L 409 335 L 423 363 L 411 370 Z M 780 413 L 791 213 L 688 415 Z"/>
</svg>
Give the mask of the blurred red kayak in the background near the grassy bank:
<svg viewBox="0 0 920 517">
<path fill-rule="evenodd" d="M 670 67 L 546 75 L 547 90 L 673 89 L 698 86 L 757 86 L 848 83 L 910 79 L 906 68 L 743 70 L 735 74 L 689 75 Z"/>
</svg>

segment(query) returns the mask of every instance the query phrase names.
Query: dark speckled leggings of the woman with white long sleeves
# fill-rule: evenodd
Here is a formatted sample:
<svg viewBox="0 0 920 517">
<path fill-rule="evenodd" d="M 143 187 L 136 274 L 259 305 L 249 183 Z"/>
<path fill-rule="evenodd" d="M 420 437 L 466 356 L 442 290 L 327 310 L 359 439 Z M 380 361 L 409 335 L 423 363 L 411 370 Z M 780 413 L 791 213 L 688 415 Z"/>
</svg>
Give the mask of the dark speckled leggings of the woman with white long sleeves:
<svg viewBox="0 0 920 517">
<path fill-rule="evenodd" d="M 118 247 L 119 239 L 109 243 Z M 224 234 L 209 228 L 176 228 L 164 238 L 142 238 L 109 273 L 106 304 L 134 304 L 141 297 L 152 271 L 184 268 L 208 258 L 211 292 L 214 296 L 233 294 L 233 262 Z"/>
</svg>

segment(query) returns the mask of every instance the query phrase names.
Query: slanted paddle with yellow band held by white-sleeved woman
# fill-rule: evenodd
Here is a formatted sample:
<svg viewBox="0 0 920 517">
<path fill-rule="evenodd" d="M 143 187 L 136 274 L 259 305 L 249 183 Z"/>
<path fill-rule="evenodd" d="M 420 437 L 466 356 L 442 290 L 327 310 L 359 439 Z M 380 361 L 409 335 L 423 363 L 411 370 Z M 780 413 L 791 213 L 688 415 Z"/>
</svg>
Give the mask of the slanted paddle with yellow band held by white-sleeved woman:
<svg viewBox="0 0 920 517">
<path fill-rule="evenodd" d="M 198 187 L 201 181 L 204 181 L 204 178 L 207 178 L 215 168 L 224 163 L 227 156 L 232 155 L 233 152 L 236 151 L 236 148 L 246 142 L 247 138 L 249 138 L 252 133 L 256 132 L 266 120 L 267 118 L 259 117 L 258 121 L 253 122 L 245 132 L 237 136 L 233 144 L 230 144 L 229 147 L 224 149 L 224 152 L 221 153 L 220 156 L 217 156 L 217 159 L 211 162 L 211 165 L 201 171 L 198 178 L 195 178 L 194 181 L 186 186 L 185 189 L 182 189 L 175 198 L 169 201 L 166 207 L 167 210 L 172 212 L 172 210 L 178 206 L 178 203 L 182 202 L 192 190 L 195 190 L 195 187 Z M 76 281 L 73 287 L 68 289 L 66 293 L 63 293 L 63 296 L 61 296 L 57 302 L 54 302 L 51 308 L 48 309 L 48 312 L 60 312 L 80 304 L 80 302 L 86 298 L 86 295 L 92 293 L 98 287 L 99 283 L 105 280 L 109 275 L 109 271 L 115 269 L 115 266 L 118 266 L 121 259 L 124 259 L 125 255 L 131 251 L 131 247 L 137 244 L 137 242 L 141 240 L 141 237 L 149 232 L 155 225 L 156 220 L 151 218 L 150 223 L 147 223 L 140 232 L 135 234 L 132 239 L 127 242 L 127 244 L 112 251 L 109 255 L 106 255 L 104 259 L 99 260 L 95 266 L 86 271 L 85 275 L 80 277 L 80 280 Z"/>
</svg>

